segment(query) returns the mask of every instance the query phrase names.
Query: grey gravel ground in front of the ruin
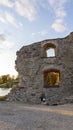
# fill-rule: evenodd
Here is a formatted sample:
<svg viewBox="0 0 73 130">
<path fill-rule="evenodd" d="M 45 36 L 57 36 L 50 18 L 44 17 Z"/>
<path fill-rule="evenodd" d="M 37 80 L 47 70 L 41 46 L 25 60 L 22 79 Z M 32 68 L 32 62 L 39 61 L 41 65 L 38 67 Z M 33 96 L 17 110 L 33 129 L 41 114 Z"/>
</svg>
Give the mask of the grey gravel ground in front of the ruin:
<svg viewBox="0 0 73 130">
<path fill-rule="evenodd" d="M 73 104 L 0 102 L 0 130 L 73 130 Z"/>
</svg>

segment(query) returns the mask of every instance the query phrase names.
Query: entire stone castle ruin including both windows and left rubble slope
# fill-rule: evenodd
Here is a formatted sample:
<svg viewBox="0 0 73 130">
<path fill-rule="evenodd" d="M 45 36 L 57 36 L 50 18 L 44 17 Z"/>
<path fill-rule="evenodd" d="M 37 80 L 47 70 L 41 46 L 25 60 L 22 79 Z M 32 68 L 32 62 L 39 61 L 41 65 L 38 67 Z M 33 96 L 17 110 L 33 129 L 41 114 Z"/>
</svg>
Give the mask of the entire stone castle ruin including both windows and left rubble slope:
<svg viewBox="0 0 73 130">
<path fill-rule="evenodd" d="M 20 84 L 10 101 L 47 104 L 73 102 L 73 33 L 65 38 L 44 40 L 17 51 Z"/>
</svg>

